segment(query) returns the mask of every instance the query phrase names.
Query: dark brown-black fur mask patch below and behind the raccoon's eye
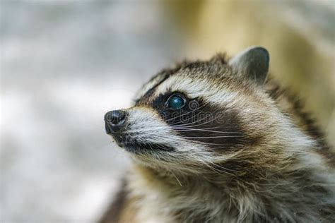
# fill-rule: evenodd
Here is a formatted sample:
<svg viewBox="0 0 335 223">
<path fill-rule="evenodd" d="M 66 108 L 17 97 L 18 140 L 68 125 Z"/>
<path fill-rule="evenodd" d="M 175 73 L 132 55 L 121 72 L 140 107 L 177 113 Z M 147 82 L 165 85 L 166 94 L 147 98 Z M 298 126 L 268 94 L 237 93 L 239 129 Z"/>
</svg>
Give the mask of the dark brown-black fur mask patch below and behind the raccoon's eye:
<svg viewBox="0 0 335 223">
<path fill-rule="evenodd" d="M 182 138 L 203 143 L 215 151 L 235 150 L 254 142 L 242 128 L 238 112 L 205 103 L 201 98 L 187 99 L 182 109 L 165 107 L 170 95 L 160 95 L 152 107 Z"/>
</svg>

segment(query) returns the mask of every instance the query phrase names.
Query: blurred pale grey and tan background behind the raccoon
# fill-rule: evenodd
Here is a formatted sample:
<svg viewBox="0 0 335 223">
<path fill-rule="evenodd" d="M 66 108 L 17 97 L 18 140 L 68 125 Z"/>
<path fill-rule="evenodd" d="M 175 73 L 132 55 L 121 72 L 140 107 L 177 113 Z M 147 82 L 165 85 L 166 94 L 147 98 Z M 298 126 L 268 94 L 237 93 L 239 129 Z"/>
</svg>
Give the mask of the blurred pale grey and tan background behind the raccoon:
<svg viewBox="0 0 335 223">
<path fill-rule="evenodd" d="M 0 222 L 94 222 L 129 165 L 106 111 L 184 59 L 271 54 L 335 144 L 335 1 L 1 0 Z"/>
</svg>

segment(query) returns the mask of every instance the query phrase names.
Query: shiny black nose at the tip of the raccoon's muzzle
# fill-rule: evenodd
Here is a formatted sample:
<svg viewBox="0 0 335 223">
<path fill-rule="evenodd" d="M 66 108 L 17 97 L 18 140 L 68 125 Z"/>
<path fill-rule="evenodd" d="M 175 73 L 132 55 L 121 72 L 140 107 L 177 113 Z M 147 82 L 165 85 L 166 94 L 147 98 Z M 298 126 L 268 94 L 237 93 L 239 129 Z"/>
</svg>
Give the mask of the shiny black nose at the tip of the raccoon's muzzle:
<svg viewBox="0 0 335 223">
<path fill-rule="evenodd" d="M 126 122 L 127 113 L 126 111 L 116 110 L 108 111 L 105 114 L 105 128 L 106 133 L 117 133 L 122 131 Z"/>
</svg>

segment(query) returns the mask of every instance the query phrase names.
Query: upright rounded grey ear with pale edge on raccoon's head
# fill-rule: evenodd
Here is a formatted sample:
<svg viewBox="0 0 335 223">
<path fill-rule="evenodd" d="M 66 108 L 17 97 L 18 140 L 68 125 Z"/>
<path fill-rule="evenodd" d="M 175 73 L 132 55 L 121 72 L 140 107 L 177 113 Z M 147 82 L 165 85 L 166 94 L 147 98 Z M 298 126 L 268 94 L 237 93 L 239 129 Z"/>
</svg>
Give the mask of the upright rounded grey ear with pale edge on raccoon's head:
<svg viewBox="0 0 335 223">
<path fill-rule="evenodd" d="M 263 47 L 250 47 L 229 60 L 229 65 L 240 76 L 247 76 L 263 85 L 269 71 L 269 52 Z"/>
</svg>

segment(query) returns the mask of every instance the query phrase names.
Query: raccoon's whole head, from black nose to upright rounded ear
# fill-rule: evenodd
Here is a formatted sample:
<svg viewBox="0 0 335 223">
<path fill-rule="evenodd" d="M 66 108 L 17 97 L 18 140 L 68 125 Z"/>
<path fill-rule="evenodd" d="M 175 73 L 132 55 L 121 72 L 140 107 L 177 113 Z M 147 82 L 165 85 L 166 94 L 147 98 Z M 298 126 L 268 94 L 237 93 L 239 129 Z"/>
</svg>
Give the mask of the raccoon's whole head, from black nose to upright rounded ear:
<svg viewBox="0 0 335 223">
<path fill-rule="evenodd" d="M 229 62 L 215 56 L 162 71 L 134 107 L 105 114 L 106 132 L 146 164 L 222 161 L 266 134 L 259 125 L 274 109 L 262 90 L 268 68 L 268 52 L 254 47 Z"/>
</svg>

